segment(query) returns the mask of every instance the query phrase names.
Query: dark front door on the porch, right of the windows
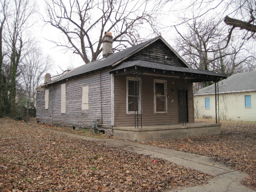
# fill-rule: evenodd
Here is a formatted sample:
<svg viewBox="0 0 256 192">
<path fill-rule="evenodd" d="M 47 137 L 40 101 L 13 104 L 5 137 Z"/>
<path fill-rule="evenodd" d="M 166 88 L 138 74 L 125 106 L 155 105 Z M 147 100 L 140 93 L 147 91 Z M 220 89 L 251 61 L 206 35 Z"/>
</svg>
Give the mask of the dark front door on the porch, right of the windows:
<svg viewBox="0 0 256 192">
<path fill-rule="evenodd" d="M 179 122 L 188 122 L 188 90 L 178 90 Z"/>
</svg>

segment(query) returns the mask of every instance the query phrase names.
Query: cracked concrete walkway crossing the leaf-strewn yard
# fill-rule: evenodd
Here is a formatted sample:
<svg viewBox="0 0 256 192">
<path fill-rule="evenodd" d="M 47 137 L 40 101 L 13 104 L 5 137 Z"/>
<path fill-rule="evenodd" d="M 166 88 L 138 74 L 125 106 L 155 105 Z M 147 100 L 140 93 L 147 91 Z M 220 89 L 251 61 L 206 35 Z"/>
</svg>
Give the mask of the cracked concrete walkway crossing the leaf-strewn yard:
<svg viewBox="0 0 256 192">
<path fill-rule="evenodd" d="M 177 189 L 175 190 L 175 192 L 256 192 L 251 188 L 248 188 L 245 185 L 241 184 L 241 181 L 244 180 L 245 177 L 248 177 L 248 174 L 230 169 L 227 166 L 215 162 L 205 156 L 116 139 L 97 139 L 93 137 L 80 136 L 68 132 L 61 132 L 57 130 L 51 131 L 71 137 L 102 142 L 110 146 L 122 146 L 127 151 L 150 155 L 151 157 L 155 158 L 163 158 L 168 161 L 174 162 L 177 165 L 196 169 L 202 171 L 203 173 L 208 173 L 214 176 L 213 179 L 208 181 L 208 184 L 197 185 L 195 187 L 187 187 L 183 190 Z"/>
</svg>

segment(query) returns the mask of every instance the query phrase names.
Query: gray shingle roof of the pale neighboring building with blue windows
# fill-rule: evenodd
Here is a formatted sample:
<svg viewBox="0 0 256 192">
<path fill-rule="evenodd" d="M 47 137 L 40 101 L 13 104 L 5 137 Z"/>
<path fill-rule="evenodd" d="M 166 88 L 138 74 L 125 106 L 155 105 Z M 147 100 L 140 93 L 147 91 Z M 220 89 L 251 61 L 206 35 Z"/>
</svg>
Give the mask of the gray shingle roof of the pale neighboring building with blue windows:
<svg viewBox="0 0 256 192">
<path fill-rule="evenodd" d="M 256 90 L 256 71 L 237 73 L 218 83 L 219 93 L 244 92 Z M 196 91 L 194 94 L 213 94 L 215 93 L 214 85 L 210 85 Z"/>
</svg>

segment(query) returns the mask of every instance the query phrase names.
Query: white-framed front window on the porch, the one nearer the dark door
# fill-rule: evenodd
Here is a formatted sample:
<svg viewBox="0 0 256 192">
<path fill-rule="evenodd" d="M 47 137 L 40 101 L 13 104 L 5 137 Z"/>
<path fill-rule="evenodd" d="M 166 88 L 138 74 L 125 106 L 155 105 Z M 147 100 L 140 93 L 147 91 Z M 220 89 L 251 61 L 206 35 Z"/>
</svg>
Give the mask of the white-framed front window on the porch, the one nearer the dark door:
<svg viewBox="0 0 256 192">
<path fill-rule="evenodd" d="M 166 80 L 154 79 L 154 113 L 167 112 Z"/>
</svg>

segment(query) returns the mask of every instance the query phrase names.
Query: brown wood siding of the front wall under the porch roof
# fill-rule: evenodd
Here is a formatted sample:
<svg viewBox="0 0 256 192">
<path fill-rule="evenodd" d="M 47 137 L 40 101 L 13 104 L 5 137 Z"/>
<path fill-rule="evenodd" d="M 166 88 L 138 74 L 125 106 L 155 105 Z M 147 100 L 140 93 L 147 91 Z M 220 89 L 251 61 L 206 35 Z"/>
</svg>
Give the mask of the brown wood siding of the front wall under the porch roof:
<svg viewBox="0 0 256 192">
<path fill-rule="evenodd" d="M 167 80 L 167 113 L 154 114 L 154 79 Z M 134 125 L 134 115 L 126 114 L 126 76 L 115 76 L 114 82 L 115 126 Z M 180 78 L 142 75 L 142 124 L 179 123 L 178 90 L 182 88 L 184 88 L 184 80 Z M 188 122 L 192 123 L 194 122 L 192 83 L 185 82 L 185 89 L 188 90 Z"/>
</svg>

